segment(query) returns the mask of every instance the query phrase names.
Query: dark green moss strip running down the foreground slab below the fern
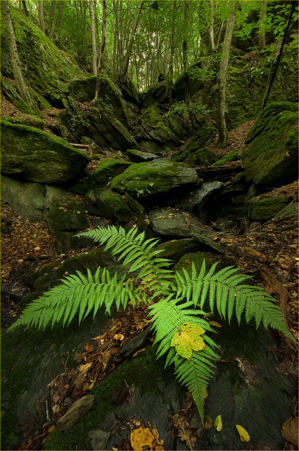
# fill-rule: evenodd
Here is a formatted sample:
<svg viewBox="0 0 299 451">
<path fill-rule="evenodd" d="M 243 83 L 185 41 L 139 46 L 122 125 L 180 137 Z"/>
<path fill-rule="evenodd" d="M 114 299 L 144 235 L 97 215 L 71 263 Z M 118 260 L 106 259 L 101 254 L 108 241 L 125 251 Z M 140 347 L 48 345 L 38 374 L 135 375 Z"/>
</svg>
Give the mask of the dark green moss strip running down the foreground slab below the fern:
<svg viewBox="0 0 299 451">
<path fill-rule="evenodd" d="M 103 381 L 99 382 L 92 390 L 94 403 L 87 414 L 66 432 L 54 431 L 52 437 L 44 445 L 43 449 L 84 449 L 86 433 L 89 430 L 98 429 L 107 413 L 115 410 L 115 404 L 111 402 L 111 394 L 121 388 L 124 381 L 129 387 L 138 387 L 140 393 L 151 393 L 153 396 L 161 391 L 161 382 L 168 385 L 175 380 L 174 367 L 171 365 L 164 369 L 165 357 L 156 360 L 157 346 L 148 348 L 135 359 L 126 360 L 111 372 Z M 180 390 L 180 387 L 177 387 Z M 181 388 L 181 394 L 185 389 Z"/>
</svg>

